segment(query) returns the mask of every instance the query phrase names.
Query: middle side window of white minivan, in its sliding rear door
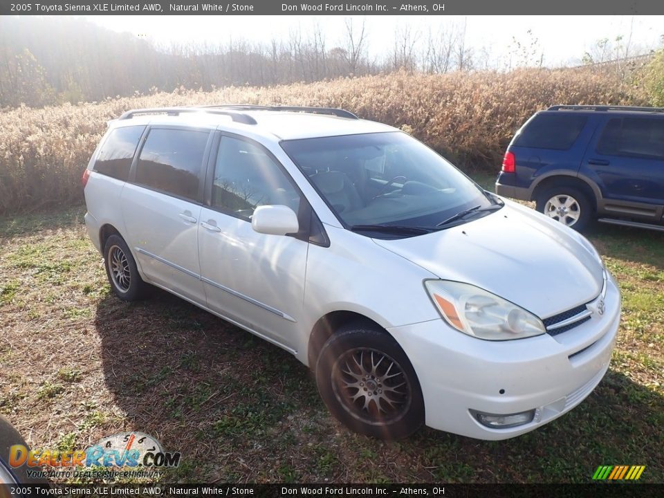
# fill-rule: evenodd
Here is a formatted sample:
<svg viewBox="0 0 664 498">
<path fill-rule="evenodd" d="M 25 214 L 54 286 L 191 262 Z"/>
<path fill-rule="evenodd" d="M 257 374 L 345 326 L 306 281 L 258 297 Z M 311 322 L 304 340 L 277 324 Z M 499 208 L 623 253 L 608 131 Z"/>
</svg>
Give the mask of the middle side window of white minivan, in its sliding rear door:
<svg viewBox="0 0 664 498">
<path fill-rule="evenodd" d="M 207 131 L 151 129 L 136 165 L 136 183 L 199 200 Z"/>
</svg>

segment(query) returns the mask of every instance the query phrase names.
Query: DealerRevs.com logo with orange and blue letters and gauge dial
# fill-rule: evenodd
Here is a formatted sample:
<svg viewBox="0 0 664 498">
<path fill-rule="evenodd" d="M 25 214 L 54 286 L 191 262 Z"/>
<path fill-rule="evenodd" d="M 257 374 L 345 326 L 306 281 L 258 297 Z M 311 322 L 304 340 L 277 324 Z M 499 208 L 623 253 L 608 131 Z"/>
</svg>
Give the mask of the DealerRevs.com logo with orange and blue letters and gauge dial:
<svg viewBox="0 0 664 498">
<path fill-rule="evenodd" d="M 180 457 L 180 452 L 165 452 L 148 434 L 124 432 L 104 438 L 87 450 L 28 450 L 24 445 L 13 445 L 9 465 L 27 465 L 32 477 L 156 477 L 160 472 L 154 470 L 177 467 Z M 49 467 L 49 471 L 42 470 Z M 124 471 L 118 472 L 120 469 Z"/>
</svg>

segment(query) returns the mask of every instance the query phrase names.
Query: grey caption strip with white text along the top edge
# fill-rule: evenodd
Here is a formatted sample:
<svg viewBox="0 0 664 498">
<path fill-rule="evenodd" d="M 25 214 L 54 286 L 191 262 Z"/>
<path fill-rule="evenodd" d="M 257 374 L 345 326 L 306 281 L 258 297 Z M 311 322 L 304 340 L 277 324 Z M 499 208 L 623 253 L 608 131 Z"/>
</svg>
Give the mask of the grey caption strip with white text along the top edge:
<svg viewBox="0 0 664 498">
<path fill-rule="evenodd" d="M 661 0 L 0 0 L 0 15 L 661 15 Z M 589 23 L 598 22 L 588 19 Z M 564 26 L 561 26 L 564 30 Z"/>
</svg>

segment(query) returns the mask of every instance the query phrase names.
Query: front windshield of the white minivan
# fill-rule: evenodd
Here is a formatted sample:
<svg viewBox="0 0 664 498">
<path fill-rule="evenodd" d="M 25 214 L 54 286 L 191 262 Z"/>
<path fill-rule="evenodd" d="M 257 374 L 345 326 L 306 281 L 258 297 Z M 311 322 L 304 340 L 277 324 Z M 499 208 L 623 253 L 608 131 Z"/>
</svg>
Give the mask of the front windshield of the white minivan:
<svg viewBox="0 0 664 498">
<path fill-rule="evenodd" d="M 442 230 L 502 205 L 400 131 L 284 140 L 281 145 L 344 225 L 371 237 Z"/>
</svg>

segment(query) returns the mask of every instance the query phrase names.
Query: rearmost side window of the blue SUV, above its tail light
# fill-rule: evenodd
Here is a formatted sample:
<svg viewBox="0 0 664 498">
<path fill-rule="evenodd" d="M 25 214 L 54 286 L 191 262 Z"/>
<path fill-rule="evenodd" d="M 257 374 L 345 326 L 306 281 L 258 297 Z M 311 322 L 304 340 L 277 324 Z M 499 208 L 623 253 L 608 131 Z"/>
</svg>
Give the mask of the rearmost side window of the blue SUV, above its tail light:
<svg viewBox="0 0 664 498">
<path fill-rule="evenodd" d="M 562 113 L 538 114 L 517 137 L 514 145 L 535 149 L 567 150 L 586 125 L 586 116 Z"/>
</svg>

